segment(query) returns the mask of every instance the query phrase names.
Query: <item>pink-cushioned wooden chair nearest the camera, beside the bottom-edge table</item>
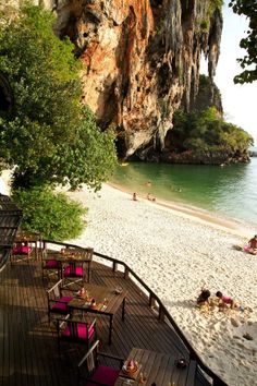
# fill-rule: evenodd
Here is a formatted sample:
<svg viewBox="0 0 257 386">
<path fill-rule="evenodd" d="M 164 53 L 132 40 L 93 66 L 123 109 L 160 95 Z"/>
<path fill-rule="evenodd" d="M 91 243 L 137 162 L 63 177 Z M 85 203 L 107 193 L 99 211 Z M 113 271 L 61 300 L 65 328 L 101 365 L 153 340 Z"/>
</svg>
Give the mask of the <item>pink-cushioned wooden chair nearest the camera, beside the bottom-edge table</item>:
<svg viewBox="0 0 257 386">
<path fill-rule="evenodd" d="M 83 357 L 77 365 L 77 385 L 103 385 L 113 386 L 124 364 L 122 358 L 99 352 L 99 340 L 97 340 Z M 105 360 L 105 364 L 100 363 Z M 106 365 L 107 361 L 115 362 L 115 367 Z M 83 382 L 85 379 L 85 382 Z"/>
</svg>

